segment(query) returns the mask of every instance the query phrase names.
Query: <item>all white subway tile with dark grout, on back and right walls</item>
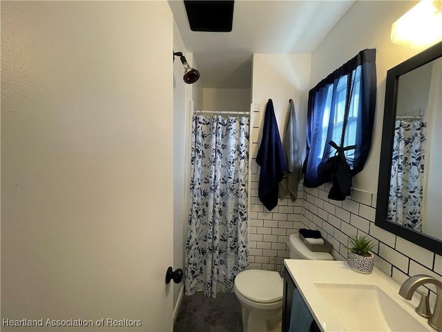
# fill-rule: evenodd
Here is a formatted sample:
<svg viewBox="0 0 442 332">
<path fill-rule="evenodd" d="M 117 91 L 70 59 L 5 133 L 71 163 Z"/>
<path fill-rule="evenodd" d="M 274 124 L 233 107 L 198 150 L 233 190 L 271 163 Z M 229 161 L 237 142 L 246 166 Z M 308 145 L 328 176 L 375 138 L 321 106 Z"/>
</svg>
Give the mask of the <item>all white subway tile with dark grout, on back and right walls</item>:
<svg viewBox="0 0 442 332">
<path fill-rule="evenodd" d="M 258 119 L 258 111 L 254 118 Z M 255 133 L 251 146 L 251 191 L 249 214 L 249 269 L 275 270 L 282 273 L 285 258 L 289 258 L 289 235 L 300 228 L 319 230 L 333 245 L 336 260 L 347 257 L 348 238 L 365 234 L 375 243 L 372 252 L 375 266 L 397 282 L 418 273 L 434 275 L 442 280 L 442 257 L 374 225 L 376 194 L 352 189 L 345 201 L 328 199 L 331 183 L 318 188 L 298 188 L 298 199 L 280 199 L 278 206 L 268 211 L 258 199 L 259 121 L 253 124 Z M 430 287 L 431 288 L 431 287 Z M 432 294 L 434 297 L 434 294 Z"/>
</svg>

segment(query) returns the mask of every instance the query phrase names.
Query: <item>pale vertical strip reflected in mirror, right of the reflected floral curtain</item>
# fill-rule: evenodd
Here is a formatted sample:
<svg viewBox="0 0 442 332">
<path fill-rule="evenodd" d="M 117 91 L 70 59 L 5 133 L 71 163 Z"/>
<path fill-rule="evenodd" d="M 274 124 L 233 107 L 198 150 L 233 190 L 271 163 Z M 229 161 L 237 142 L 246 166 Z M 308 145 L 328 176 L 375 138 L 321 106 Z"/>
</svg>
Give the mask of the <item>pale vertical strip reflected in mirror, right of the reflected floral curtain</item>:
<svg viewBox="0 0 442 332">
<path fill-rule="evenodd" d="M 423 232 L 442 239 L 442 58 L 434 60 L 428 94 Z"/>
</svg>

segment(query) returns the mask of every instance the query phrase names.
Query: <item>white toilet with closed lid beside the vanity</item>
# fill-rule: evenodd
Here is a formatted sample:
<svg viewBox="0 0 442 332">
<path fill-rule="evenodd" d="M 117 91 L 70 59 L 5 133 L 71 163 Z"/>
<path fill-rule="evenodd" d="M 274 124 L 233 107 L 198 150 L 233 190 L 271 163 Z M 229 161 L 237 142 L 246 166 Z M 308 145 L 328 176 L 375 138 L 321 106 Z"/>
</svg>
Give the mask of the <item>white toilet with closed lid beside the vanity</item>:
<svg viewBox="0 0 442 332">
<path fill-rule="evenodd" d="M 313 252 L 299 238 L 289 236 L 290 259 L 318 259 L 332 261 L 329 252 Z M 244 332 L 281 331 L 282 279 L 278 272 L 245 270 L 235 278 L 233 291 L 242 306 Z"/>
</svg>

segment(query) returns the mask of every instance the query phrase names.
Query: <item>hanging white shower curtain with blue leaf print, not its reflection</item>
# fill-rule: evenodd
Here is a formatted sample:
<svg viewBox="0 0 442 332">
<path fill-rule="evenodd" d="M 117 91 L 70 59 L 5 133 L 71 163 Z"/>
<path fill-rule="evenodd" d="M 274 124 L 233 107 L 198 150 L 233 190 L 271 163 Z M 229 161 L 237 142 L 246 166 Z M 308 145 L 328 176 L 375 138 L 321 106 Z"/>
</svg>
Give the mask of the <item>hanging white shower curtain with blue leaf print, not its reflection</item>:
<svg viewBox="0 0 442 332">
<path fill-rule="evenodd" d="M 233 291 L 247 268 L 249 118 L 193 116 L 186 295 Z"/>
</svg>

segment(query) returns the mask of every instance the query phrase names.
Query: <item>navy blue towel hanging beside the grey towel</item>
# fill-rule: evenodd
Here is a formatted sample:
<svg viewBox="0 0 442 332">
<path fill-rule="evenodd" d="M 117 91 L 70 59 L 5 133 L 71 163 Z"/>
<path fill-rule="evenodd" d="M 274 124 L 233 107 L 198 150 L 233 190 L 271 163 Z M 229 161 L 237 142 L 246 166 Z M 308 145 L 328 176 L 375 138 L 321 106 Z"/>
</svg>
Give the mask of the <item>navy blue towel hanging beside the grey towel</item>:
<svg viewBox="0 0 442 332">
<path fill-rule="evenodd" d="M 278 183 L 288 168 L 271 99 L 265 109 L 264 128 L 256 163 L 261 167 L 258 196 L 267 210 L 272 210 L 278 205 Z"/>
</svg>

